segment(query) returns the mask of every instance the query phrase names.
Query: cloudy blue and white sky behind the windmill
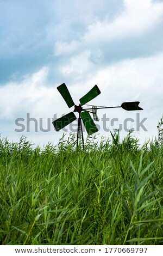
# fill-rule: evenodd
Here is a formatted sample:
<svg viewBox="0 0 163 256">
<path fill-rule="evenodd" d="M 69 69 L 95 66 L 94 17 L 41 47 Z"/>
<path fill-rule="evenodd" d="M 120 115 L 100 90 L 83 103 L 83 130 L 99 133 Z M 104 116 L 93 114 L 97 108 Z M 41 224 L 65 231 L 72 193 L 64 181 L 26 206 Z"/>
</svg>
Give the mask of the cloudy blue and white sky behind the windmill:
<svg viewBox="0 0 163 256">
<path fill-rule="evenodd" d="M 162 0 L 0 0 L 1 136 L 11 142 L 26 136 L 42 147 L 75 131 L 77 120 L 65 131 L 52 125 L 73 111 L 57 90 L 66 83 L 76 105 L 95 84 L 101 94 L 88 104 L 140 101 L 143 111 L 98 110 L 99 136 L 121 128 L 121 138 L 130 129 L 140 143 L 155 138 L 162 28 Z"/>
</svg>

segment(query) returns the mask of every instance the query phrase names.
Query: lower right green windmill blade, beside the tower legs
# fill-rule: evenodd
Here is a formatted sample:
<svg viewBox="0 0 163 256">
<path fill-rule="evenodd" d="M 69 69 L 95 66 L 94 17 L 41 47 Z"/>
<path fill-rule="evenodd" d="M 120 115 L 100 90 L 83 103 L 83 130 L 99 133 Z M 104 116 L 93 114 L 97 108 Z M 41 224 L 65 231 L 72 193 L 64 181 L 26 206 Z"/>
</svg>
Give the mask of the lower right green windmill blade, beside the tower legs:
<svg viewBox="0 0 163 256">
<path fill-rule="evenodd" d="M 98 131 L 97 126 L 95 125 L 89 112 L 83 111 L 82 113 L 80 113 L 80 117 L 83 120 L 83 124 L 85 126 L 85 129 L 86 129 L 88 135 L 91 135 Z"/>
</svg>

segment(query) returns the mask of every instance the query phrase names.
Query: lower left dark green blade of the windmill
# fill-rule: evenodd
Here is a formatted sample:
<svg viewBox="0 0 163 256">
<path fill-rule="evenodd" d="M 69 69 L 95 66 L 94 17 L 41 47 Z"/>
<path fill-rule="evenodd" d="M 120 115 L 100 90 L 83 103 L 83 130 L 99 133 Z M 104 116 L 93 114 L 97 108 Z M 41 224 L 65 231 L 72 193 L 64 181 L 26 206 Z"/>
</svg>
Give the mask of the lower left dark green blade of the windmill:
<svg viewBox="0 0 163 256">
<path fill-rule="evenodd" d="M 57 120 L 53 121 L 53 125 L 56 131 L 61 130 L 66 125 L 72 123 L 74 120 L 76 120 L 76 115 L 73 112 L 70 112 L 66 115 L 64 115 L 61 118 L 58 118 Z"/>
</svg>

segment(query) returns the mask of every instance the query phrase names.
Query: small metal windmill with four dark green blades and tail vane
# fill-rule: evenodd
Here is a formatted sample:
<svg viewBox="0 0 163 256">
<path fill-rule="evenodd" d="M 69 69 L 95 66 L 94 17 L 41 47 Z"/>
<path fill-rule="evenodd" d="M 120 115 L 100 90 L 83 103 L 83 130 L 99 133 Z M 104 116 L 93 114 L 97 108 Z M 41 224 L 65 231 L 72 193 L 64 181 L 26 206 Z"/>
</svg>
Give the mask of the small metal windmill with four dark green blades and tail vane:
<svg viewBox="0 0 163 256">
<path fill-rule="evenodd" d="M 82 98 L 79 99 L 80 104 L 76 105 L 72 97 L 70 95 L 70 92 L 68 91 L 66 84 L 62 83 L 60 86 L 57 87 L 59 90 L 61 96 L 64 98 L 65 102 L 67 103 L 67 106 L 69 108 L 74 106 L 73 112 L 70 112 L 61 118 L 54 120 L 52 123 L 54 125 L 54 128 L 56 131 L 61 130 L 68 124 L 71 124 L 74 120 L 76 120 L 76 115 L 74 112 L 79 113 L 78 117 L 78 131 L 77 131 L 77 147 L 79 145 L 79 141 L 82 140 L 83 143 L 83 148 L 84 148 L 84 137 L 83 137 L 83 129 L 82 129 L 82 121 L 85 126 L 85 129 L 88 133 L 88 135 L 92 135 L 93 133 L 97 132 L 97 126 L 94 123 L 93 119 L 95 121 L 99 121 L 97 117 L 97 109 L 102 109 L 102 108 L 117 108 L 117 107 L 122 107 L 123 109 L 127 111 L 133 111 L 133 110 L 143 110 L 141 107 L 139 107 L 139 101 L 134 101 L 134 102 L 123 102 L 121 106 L 116 106 L 116 107 L 104 107 L 104 106 L 92 106 L 92 105 L 86 105 L 87 102 L 93 100 L 96 96 L 101 94 L 99 88 L 97 85 L 95 85 L 87 94 L 85 94 Z M 83 108 L 82 106 L 92 106 L 91 108 Z M 93 119 L 91 118 L 90 113 L 93 114 Z"/>
</svg>

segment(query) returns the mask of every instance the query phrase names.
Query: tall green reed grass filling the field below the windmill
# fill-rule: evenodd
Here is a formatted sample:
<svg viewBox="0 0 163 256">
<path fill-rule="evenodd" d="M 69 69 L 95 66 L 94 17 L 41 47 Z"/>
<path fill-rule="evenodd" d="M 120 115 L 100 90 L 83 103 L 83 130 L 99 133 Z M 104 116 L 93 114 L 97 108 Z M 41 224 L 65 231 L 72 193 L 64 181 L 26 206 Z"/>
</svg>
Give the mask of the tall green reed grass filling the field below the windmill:
<svg viewBox="0 0 163 256">
<path fill-rule="evenodd" d="M 33 148 L 0 141 L 1 245 L 163 245 L 163 147 L 75 138 Z"/>
</svg>

